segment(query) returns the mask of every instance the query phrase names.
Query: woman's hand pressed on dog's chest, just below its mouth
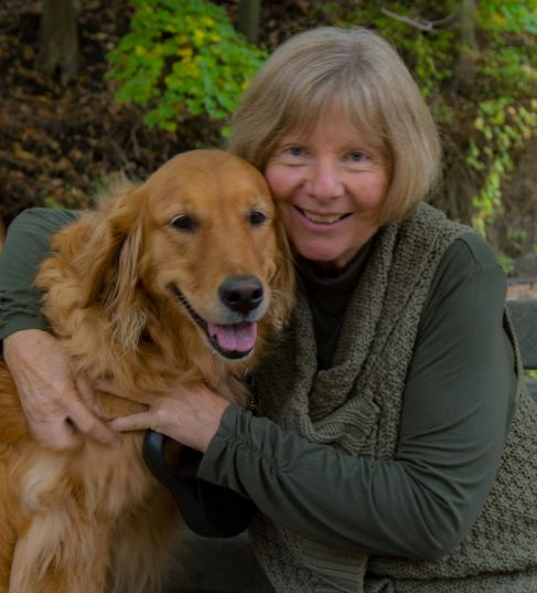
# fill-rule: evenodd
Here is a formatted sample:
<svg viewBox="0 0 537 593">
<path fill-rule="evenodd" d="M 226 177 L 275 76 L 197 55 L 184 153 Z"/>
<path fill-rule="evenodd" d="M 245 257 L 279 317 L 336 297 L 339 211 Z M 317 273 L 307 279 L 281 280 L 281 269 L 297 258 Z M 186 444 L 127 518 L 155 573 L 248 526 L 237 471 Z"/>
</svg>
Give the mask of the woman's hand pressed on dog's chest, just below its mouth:
<svg viewBox="0 0 537 593">
<path fill-rule="evenodd" d="M 110 421 L 108 425 L 115 431 L 152 428 L 201 452 L 207 448 L 218 430 L 224 410 L 229 405 L 227 400 L 202 383 L 178 384 L 164 394 L 144 396 L 143 400 L 118 391 L 108 381 L 97 381 L 95 386 L 99 391 L 149 405 L 144 412 Z"/>
</svg>

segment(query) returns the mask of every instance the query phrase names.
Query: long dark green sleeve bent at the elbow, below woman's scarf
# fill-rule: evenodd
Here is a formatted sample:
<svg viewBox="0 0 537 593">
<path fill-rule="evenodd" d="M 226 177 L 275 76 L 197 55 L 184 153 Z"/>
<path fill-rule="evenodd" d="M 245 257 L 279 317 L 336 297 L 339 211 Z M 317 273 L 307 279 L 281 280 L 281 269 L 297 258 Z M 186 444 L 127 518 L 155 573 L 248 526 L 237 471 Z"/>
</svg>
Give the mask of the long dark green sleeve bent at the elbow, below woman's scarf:
<svg viewBox="0 0 537 593">
<path fill-rule="evenodd" d="M 313 540 L 369 554 L 434 559 L 472 527 L 513 413 L 506 282 L 472 234 L 444 255 L 423 309 L 395 458 L 356 458 L 229 406 L 198 476 L 249 496 Z"/>
</svg>

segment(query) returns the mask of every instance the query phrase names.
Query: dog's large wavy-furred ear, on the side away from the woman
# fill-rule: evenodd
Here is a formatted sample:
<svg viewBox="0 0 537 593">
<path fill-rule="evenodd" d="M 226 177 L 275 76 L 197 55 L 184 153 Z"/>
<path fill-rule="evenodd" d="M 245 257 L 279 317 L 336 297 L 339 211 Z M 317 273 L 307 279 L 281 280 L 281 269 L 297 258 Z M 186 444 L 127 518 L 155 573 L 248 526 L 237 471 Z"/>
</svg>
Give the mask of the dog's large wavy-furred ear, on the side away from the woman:
<svg viewBox="0 0 537 593">
<path fill-rule="evenodd" d="M 140 188 L 117 188 L 99 209 L 78 262 L 79 269 L 85 269 L 85 306 L 98 306 L 129 350 L 137 348 L 147 321 L 139 289 L 143 200 Z"/>
</svg>

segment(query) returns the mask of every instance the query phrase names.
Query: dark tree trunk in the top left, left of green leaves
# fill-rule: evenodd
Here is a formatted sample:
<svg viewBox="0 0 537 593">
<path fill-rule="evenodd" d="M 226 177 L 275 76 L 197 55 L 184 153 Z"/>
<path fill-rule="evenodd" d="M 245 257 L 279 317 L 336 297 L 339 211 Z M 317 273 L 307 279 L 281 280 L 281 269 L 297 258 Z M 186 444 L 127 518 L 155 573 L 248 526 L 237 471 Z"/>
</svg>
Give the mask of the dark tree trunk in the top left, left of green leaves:
<svg viewBox="0 0 537 593">
<path fill-rule="evenodd" d="M 60 74 L 62 84 L 78 75 L 78 31 L 75 0 L 42 0 L 39 66 Z"/>
</svg>

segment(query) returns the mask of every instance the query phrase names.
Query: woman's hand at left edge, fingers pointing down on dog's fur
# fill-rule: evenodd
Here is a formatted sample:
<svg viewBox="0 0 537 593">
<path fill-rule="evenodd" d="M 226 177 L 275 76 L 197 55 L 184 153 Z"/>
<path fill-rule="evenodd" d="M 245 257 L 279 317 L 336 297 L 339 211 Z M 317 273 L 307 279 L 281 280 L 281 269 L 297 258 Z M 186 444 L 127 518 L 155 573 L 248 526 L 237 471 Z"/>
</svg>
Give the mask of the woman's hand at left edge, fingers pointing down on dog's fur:
<svg viewBox="0 0 537 593">
<path fill-rule="evenodd" d="M 3 356 L 13 375 L 30 431 L 43 445 L 75 448 L 80 433 L 105 445 L 118 443 L 98 417 L 95 392 L 83 374 L 75 374 L 56 338 L 40 329 L 24 329 L 3 340 Z"/>
</svg>

